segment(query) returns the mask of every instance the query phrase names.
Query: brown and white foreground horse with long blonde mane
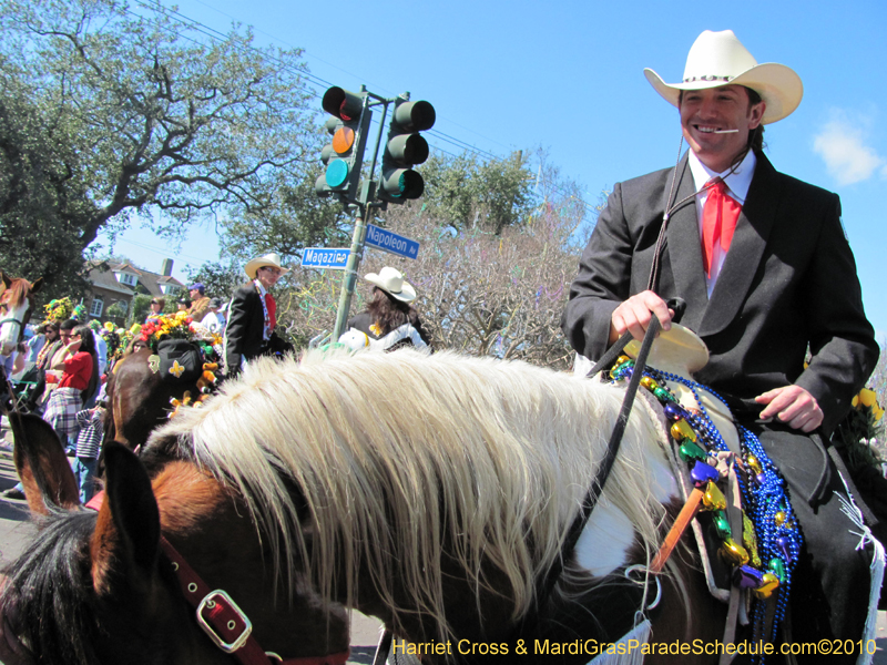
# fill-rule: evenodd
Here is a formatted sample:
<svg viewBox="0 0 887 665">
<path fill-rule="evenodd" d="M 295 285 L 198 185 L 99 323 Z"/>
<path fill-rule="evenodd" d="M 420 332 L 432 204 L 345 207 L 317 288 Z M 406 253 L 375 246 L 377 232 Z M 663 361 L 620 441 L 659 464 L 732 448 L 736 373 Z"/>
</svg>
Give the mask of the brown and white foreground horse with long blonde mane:
<svg viewBox="0 0 887 665">
<path fill-rule="evenodd" d="M 98 513 L 49 480 L 61 463 L 34 449 L 51 431 L 17 419 L 17 466 L 47 518 L 8 572 L 0 645 L 14 658 L 4 657 L 230 662 L 198 628 L 202 610 L 184 618 L 171 545 L 286 663 L 343 663 L 346 607 L 379 617 L 400 653 L 429 663 L 587 663 L 638 634 L 655 585 L 626 570 L 648 566 L 680 507 L 662 421 L 639 399 L 597 508 L 563 552 L 622 397 L 449 352 L 263 359 L 156 430 L 147 472 L 108 446 Z M 723 608 L 689 556 L 672 561 L 667 610 L 649 613 L 655 641 L 716 640 L 707 620 Z M 38 605 L 51 593 L 69 602 L 45 616 Z"/>
</svg>

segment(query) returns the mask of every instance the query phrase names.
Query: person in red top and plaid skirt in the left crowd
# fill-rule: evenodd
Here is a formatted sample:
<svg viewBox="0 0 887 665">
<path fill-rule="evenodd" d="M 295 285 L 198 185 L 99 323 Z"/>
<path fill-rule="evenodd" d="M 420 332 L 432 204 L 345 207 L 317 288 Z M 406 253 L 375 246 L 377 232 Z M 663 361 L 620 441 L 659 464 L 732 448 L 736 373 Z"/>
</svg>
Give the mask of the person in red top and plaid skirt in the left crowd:
<svg viewBox="0 0 887 665">
<path fill-rule="evenodd" d="M 77 412 L 99 385 L 99 359 L 92 330 L 89 326 L 77 326 L 67 339 L 68 344 L 54 357 L 60 359 L 50 368 L 61 371 L 61 377 L 43 411 L 43 420 L 52 426 L 62 444 L 77 433 Z"/>
</svg>

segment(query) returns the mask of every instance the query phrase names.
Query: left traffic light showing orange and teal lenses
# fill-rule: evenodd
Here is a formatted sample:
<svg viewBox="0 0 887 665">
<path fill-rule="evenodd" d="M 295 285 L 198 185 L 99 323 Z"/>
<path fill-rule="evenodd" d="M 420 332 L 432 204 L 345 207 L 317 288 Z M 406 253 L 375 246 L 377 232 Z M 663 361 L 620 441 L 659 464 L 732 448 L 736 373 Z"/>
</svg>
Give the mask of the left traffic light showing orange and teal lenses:
<svg viewBox="0 0 887 665">
<path fill-rule="evenodd" d="M 366 100 L 366 92 L 355 93 L 336 86 L 324 93 L 324 111 L 333 116 L 327 119 L 325 126 L 333 135 L 333 142 L 320 152 L 320 161 L 326 164 L 326 170 L 315 184 L 319 196 L 339 193 L 349 201 L 357 197 L 373 116 Z"/>
</svg>

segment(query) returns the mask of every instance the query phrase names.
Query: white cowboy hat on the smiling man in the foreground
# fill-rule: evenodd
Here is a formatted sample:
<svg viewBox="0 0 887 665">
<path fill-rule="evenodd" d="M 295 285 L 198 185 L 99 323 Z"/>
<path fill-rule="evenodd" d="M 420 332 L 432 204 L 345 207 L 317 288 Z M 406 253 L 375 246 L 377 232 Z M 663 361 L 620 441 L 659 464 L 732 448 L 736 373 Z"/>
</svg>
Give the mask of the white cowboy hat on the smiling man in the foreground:
<svg viewBox="0 0 887 665">
<path fill-rule="evenodd" d="M 656 72 L 644 70 L 646 80 L 667 102 L 677 106 L 682 90 L 704 90 L 720 85 L 745 85 L 766 102 L 763 124 L 791 114 L 801 103 L 804 84 L 794 70 L 765 62 L 757 64 L 732 30 L 706 30 L 690 48 L 682 83 L 665 83 Z"/>
</svg>

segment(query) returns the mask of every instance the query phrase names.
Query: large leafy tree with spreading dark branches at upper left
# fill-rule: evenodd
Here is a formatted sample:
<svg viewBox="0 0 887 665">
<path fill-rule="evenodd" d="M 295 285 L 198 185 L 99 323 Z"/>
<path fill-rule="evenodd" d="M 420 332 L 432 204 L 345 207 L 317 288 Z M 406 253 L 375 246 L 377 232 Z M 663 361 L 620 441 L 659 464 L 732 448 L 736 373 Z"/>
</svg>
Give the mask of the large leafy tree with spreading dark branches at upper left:
<svg viewBox="0 0 887 665">
<path fill-rule="evenodd" d="M 0 0 L 10 273 L 68 288 L 99 232 L 135 212 L 159 213 L 156 231 L 170 235 L 197 219 L 256 218 L 282 184 L 314 170 L 319 133 L 298 50 L 258 49 L 237 27 L 202 43 L 160 6 L 140 11 Z"/>
</svg>

